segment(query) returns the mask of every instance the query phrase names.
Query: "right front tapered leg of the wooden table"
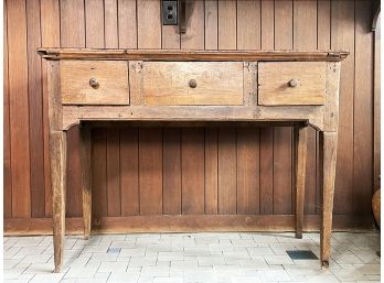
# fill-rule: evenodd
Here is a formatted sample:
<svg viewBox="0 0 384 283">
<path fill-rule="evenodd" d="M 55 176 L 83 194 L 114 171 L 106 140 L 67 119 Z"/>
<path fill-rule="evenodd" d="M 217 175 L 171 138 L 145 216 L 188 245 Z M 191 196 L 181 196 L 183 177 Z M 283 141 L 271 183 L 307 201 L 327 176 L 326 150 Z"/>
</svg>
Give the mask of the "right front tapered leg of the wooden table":
<svg viewBox="0 0 384 283">
<path fill-rule="evenodd" d="M 320 132 L 320 145 L 322 154 L 322 220 L 320 230 L 320 257 L 322 266 L 328 268 L 331 253 L 338 133 Z"/>
</svg>

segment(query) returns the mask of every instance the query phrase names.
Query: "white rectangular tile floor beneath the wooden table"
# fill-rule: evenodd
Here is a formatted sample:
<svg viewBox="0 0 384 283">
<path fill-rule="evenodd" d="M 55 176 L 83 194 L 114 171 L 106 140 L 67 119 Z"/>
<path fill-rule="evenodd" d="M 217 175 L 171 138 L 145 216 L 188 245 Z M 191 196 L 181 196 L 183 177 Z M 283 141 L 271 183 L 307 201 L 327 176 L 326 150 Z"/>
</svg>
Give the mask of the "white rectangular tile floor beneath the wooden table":
<svg viewBox="0 0 384 283">
<path fill-rule="evenodd" d="M 64 270 L 52 273 L 52 237 L 6 237 L 4 279 L 13 283 L 380 282 L 380 235 L 334 232 L 329 270 L 291 260 L 319 233 L 137 233 L 67 237 Z"/>
</svg>

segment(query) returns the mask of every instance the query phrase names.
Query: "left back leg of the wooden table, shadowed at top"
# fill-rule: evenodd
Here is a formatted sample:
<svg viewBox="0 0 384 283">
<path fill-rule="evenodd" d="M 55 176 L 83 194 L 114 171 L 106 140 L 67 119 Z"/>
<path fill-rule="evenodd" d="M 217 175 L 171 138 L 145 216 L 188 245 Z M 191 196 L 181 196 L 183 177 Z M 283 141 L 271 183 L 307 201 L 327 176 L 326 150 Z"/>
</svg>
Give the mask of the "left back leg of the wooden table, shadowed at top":
<svg viewBox="0 0 384 283">
<path fill-rule="evenodd" d="M 90 129 L 81 128 L 81 164 L 83 192 L 84 238 L 88 239 L 92 224 L 92 170 L 90 170 Z"/>
</svg>

